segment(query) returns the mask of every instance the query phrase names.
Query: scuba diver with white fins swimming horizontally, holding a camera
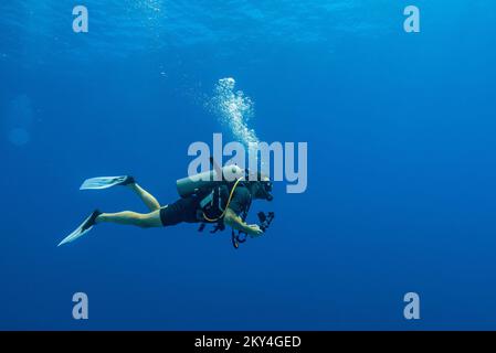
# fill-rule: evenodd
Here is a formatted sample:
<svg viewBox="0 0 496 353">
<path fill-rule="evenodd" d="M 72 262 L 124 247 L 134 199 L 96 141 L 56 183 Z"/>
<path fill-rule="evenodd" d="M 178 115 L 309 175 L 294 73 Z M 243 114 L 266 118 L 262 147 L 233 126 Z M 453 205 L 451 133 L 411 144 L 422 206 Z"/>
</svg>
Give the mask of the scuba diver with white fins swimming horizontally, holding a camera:
<svg viewBox="0 0 496 353">
<path fill-rule="evenodd" d="M 258 237 L 274 218 L 274 213 L 258 213 L 261 224 L 247 224 L 245 218 L 252 200 L 272 201 L 273 184 L 257 172 L 241 170 L 238 165 L 220 169 L 213 160 L 213 171 L 180 179 L 176 182 L 181 199 L 175 203 L 160 205 L 155 196 L 143 189 L 130 175 L 102 176 L 87 179 L 80 190 L 103 190 L 112 186 L 126 186 L 133 190 L 148 207 L 149 213 L 123 211 L 103 213 L 95 210 L 71 235 L 60 244 L 72 243 L 101 223 L 131 225 L 141 228 L 166 227 L 179 223 L 200 223 L 202 232 L 205 224 L 215 224 L 211 233 L 232 228 L 232 243 L 235 248 L 246 237 Z M 221 175 L 221 176 L 219 176 Z"/>
</svg>

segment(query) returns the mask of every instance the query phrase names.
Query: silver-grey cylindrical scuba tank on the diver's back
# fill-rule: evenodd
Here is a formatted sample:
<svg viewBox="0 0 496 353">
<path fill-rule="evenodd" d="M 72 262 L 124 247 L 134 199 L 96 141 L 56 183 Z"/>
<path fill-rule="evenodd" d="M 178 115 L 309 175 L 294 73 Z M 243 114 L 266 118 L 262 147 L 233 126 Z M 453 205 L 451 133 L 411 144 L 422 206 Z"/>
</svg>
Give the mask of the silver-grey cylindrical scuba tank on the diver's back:
<svg viewBox="0 0 496 353">
<path fill-rule="evenodd" d="M 176 181 L 176 188 L 181 197 L 188 197 L 205 190 L 212 190 L 220 184 L 234 182 L 242 176 L 244 176 L 243 170 L 232 164 L 179 179 Z"/>
</svg>

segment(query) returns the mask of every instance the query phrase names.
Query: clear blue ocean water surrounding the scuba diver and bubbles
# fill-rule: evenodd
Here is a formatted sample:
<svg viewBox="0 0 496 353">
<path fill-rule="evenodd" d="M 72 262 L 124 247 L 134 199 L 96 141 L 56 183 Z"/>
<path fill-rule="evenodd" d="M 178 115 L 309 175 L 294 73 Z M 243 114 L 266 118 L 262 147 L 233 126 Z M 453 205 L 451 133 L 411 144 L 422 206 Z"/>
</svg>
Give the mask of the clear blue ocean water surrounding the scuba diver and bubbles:
<svg viewBox="0 0 496 353">
<path fill-rule="evenodd" d="M 0 4 L 0 329 L 496 328 L 494 1 L 86 0 L 78 34 L 75 4 Z M 86 178 L 177 199 L 188 146 L 234 139 L 205 108 L 223 77 L 257 138 L 308 142 L 306 192 L 254 204 L 266 236 L 98 225 L 57 248 L 96 206 L 146 211 Z"/>
</svg>

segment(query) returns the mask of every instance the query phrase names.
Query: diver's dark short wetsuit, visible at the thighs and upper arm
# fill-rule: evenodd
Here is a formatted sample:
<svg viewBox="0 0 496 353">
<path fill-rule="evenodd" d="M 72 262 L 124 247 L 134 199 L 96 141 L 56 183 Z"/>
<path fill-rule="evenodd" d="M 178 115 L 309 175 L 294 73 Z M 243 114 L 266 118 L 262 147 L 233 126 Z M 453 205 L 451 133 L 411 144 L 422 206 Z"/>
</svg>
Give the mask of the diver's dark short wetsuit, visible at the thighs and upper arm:
<svg viewBox="0 0 496 353">
<path fill-rule="evenodd" d="M 240 185 L 234 190 L 229 208 L 231 208 L 236 215 L 240 215 L 250 206 L 252 196 L 250 190 Z M 163 226 L 176 225 L 182 222 L 198 223 L 203 222 L 200 208 L 201 199 L 197 196 L 190 196 L 179 199 L 172 204 L 169 204 L 160 210 L 160 221 Z"/>
</svg>

